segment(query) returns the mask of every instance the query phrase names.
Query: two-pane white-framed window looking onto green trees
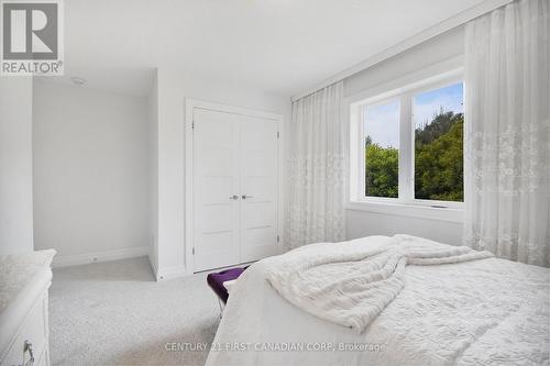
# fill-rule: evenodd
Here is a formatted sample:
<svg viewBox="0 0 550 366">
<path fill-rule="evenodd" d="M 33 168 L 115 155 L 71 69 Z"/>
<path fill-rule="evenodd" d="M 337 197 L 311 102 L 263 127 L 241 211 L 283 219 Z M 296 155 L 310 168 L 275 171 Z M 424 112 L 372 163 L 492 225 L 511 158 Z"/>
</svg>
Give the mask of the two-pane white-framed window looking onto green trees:
<svg viewBox="0 0 550 366">
<path fill-rule="evenodd" d="M 463 115 L 458 75 L 351 104 L 352 200 L 460 206 Z"/>
</svg>

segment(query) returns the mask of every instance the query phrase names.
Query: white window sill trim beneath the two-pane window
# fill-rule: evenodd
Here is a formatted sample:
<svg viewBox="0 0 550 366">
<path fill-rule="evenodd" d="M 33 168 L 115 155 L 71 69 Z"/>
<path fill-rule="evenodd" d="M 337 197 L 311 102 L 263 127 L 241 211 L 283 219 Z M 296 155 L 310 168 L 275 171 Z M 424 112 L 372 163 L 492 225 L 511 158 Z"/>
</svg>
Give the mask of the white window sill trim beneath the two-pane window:
<svg viewBox="0 0 550 366">
<path fill-rule="evenodd" d="M 396 202 L 351 201 L 345 206 L 345 210 L 365 211 L 388 215 L 419 218 L 425 220 L 437 220 L 457 223 L 462 223 L 464 221 L 464 210 L 457 208 L 433 208 L 429 206 L 405 204 Z"/>
</svg>

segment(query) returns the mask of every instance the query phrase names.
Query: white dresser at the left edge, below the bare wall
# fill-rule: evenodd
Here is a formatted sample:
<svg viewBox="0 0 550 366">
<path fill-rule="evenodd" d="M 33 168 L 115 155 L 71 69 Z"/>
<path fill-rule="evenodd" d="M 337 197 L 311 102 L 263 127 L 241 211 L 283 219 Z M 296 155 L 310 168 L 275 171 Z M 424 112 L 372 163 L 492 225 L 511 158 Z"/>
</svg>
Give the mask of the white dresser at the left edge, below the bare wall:
<svg viewBox="0 0 550 366">
<path fill-rule="evenodd" d="M 31 254 L 25 254 L 22 263 L 7 265 L 6 256 L 0 260 L 4 266 L 0 269 L 0 366 L 50 365 L 47 299 L 53 254 L 46 253 L 48 259 L 42 263 L 44 252 L 48 251 L 35 252 L 38 256 L 31 260 Z"/>
</svg>

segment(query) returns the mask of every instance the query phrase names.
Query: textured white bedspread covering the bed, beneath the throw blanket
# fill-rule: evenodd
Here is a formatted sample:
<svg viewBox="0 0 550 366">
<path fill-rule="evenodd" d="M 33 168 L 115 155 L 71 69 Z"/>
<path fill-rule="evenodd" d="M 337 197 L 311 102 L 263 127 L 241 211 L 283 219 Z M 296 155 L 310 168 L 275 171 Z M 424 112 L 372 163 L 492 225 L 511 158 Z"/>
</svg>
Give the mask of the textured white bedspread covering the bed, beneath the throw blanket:
<svg viewBox="0 0 550 366">
<path fill-rule="evenodd" d="M 550 362 L 548 268 L 497 258 L 406 266 L 400 292 L 358 334 L 280 297 L 266 279 L 279 258 L 254 264 L 234 284 L 207 365 Z"/>
</svg>

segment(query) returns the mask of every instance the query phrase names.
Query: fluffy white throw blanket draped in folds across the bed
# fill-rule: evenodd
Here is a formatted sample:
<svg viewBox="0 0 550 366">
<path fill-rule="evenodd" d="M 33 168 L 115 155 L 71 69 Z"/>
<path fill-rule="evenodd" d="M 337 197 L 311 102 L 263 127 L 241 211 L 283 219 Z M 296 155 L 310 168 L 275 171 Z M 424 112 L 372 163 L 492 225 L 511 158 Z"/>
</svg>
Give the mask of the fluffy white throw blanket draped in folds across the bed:
<svg viewBox="0 0 550 366">
<path fill-rule="evenodd" d="M 266 278 L 288 302 L 363 332 L 405 285 L 405 266 L 493 256 L 410 235 L 371 236 L 345 245 L 306 245 L 270 263 Z"/>
</svg>

